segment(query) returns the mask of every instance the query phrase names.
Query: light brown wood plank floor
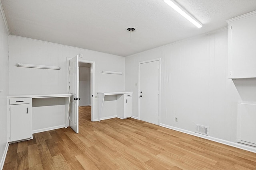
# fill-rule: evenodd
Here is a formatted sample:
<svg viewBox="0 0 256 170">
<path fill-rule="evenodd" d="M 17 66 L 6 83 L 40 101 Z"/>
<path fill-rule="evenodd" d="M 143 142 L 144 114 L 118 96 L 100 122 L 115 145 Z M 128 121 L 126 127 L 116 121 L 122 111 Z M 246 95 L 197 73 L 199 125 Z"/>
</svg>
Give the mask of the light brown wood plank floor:
<svg viewBox="0 0 256 170">
<path fill-rule="evenodd" d="M 136 119 L 90 121 L 80 107 L 79 131 L 62 128 L 10 144 L 4 170 L 255 170 L 256 154 Z"/>
</svg>

